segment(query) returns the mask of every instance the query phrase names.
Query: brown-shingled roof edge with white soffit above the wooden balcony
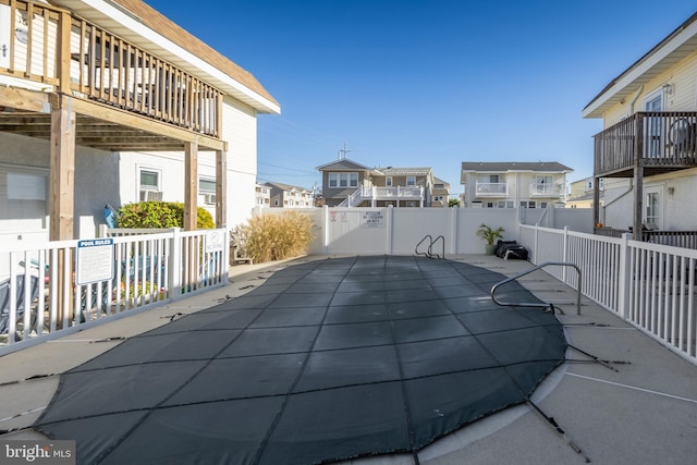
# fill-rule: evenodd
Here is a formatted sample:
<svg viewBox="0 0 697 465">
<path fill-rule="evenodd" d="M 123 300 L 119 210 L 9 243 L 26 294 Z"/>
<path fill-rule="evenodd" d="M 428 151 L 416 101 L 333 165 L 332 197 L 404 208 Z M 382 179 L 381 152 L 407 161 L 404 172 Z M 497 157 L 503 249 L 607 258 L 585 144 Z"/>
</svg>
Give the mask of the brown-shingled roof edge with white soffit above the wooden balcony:
<svg viewBox="0 0 697 465">
<path fill-rule="evenodd" d="M 85 0 L 52 0 L 51 3 L 66 8 L 74 14 L 108 28 L 122 38 L 147 48 L 172 64 L 187 72 L 194 73 L 192 64 L 185 57 L 180 57 L 178 50 L 167 44 L 147 40 L 147 29 L 156 32 L 173 44 L 179 50 L 184 50 L 209 66 L 218 70 L 221 78 L 208 75 L 205 81 L 219 87 L 224 93 L 237 98 L 264 113 L 279 113 L 280 106 L 271 94 L 248 71 L 224 57 L 212 47 L 198 39 L 167 16 L 140 0 L 111 0 L 109 2 L 87 2 Z M 115 9 L 115 11 L 114 11 Z M 121 15 L 111 14 L 120 12 Z M 188 66 L 186 63 L 188 63 Z M 198 75 L 201 69 L 197 68 Z M 225 82 L 224 77 L 234 81 L 236 85 Z M 241 86 L 242 87 L 241 87 Z"/>
</svg>

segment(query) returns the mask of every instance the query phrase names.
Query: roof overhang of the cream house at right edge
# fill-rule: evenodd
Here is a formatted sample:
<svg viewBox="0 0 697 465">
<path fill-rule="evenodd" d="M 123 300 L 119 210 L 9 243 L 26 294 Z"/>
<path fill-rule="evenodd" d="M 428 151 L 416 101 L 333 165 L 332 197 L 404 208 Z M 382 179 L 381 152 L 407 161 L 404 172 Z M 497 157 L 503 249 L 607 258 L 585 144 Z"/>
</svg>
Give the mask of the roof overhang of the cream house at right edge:
<svg viewBox="0 0 697 465">
<path fill-rule="evenodd" d="M 594 97 L 584 118 L 602 118 L 604 111 L 631 96 L 641 85 L 673 66 L 697 49 L 697 13 L 635 61 Z"/>
</svg>

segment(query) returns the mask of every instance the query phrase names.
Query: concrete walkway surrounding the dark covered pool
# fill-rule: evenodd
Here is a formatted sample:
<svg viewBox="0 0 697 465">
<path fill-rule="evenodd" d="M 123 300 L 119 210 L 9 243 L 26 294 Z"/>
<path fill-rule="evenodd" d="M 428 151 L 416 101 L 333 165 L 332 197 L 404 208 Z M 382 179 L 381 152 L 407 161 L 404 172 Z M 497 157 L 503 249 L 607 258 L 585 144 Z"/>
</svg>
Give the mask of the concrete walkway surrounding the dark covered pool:
<svg viewBox="0 0 697 465">
<path fill-rule="evenodd" d="M 307 257 L 313 260 L 326 257 Z M 530 267 L 484 255 L 449 259 L 505 276 Z M 44 439 L 28 428 L 58 388 L 59 375 L 121 343 L 123 339 L 167 323 L 176 314 L 211 307 L 260 285 L 292 261 L 240 265 L 230 285 L 129 318 L 0 357 L 0 429 L 2 439 Z M 528 405 L 509 408 L 450 435 L 419 452 L 421 464 L 688 464 L 697 457 L 697 366 L 664 348 L 626 322 L 583 299 L 542 271 L 519 282 L 564 315 L 573 360 L 561 366 L 537 390 Z M 600 364 L 591 358 L 620 363 Z M 563 433 L 548 420 L 552 418 Z M 352 464 L 413 464 L 412 455 L 350 461 Z"/>
</svg>

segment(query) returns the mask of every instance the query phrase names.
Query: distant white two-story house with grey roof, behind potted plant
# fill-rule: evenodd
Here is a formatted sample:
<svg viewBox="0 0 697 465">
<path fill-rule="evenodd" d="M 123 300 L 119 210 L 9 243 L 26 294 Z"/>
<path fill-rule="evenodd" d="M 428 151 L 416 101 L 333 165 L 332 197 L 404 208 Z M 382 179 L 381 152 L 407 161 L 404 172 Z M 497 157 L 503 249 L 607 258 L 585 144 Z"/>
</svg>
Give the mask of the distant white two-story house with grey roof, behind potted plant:
<svg viewBox="0 0 697 465">
<path fill-rule="evenodd" d="M 463 207 L 563 207 L 566 174 L 573 170 L 555 161 L 463 161 Z"/>
</svg>

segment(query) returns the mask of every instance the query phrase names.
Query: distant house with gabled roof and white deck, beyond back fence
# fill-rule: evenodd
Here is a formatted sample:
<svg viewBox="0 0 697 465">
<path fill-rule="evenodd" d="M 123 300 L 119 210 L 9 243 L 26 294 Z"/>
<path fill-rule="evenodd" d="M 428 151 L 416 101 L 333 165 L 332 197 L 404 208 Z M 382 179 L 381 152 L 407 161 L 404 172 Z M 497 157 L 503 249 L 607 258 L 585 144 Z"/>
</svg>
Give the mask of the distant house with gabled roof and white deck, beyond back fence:
<svg viewBox="0 0 697 465">
<path fill-rule="evenodd" d="M 430 168 L 367 168 L 341 158 L 317 170 L 322 173 L 322 197 L 329 207 L 432 206 Z"/>
</svg>

